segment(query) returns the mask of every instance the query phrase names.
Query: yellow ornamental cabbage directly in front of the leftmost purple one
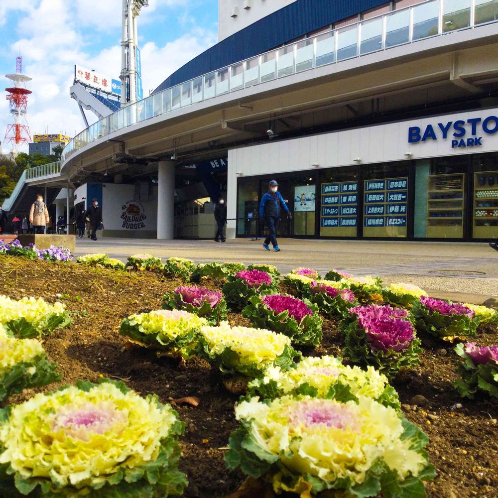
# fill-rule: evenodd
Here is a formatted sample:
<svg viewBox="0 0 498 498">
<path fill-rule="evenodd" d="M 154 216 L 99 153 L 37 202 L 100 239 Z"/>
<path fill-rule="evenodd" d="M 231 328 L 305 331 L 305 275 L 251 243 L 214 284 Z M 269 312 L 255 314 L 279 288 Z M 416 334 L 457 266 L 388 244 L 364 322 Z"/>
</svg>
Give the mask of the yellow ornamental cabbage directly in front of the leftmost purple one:
<svg viewBox="0 0 498 498">
<path fill-rule="evenodd" d="M 199 329 L 207 323 L 188 311 L 156 310 L 124 318 L 120 334 L 134 344 L 186 359 L 194 354 Z"/>
</svg>

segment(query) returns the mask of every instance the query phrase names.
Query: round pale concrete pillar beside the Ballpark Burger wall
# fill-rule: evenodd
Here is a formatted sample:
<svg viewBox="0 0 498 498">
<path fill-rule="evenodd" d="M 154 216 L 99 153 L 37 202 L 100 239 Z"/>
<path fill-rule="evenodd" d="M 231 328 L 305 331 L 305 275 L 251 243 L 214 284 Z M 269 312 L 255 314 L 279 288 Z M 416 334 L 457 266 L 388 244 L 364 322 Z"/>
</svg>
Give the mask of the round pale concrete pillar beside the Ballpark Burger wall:
<svg viewBox="0 0 498 498">
<path fill-rule="evenodd" d="M 157 238 L 172 240 L 174 236 L 175 163 L 159 161 L 157 184 Z"/>
</svg>

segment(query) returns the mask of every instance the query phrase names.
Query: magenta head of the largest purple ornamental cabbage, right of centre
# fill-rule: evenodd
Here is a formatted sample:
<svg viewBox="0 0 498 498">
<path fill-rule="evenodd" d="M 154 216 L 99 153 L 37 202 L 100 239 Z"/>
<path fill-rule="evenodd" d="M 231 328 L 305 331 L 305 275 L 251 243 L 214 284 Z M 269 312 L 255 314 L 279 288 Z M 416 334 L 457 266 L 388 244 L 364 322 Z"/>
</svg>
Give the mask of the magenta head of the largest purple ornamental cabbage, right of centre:
<svg viewBox="0 0 498 498">
<path fill-rule="evenodd" d="M 376 351 L 403 351 L 415 339 L 413 325 L 401 318 L 373 320 L 364 329 L 367 341 Z"/>
</svg>

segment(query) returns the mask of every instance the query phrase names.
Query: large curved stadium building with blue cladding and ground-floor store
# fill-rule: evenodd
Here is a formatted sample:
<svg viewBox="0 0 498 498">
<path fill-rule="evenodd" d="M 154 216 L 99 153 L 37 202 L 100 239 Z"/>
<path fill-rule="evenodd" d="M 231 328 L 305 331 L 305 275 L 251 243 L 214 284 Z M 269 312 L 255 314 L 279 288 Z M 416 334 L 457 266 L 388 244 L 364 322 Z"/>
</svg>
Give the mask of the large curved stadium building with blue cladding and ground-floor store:
<svg viewBox="0 0 498 498">
<path fill-rule="evenodd" d="M 276 179 L 282 236 L 487 241 L 497 60 L 497 0 L 220 0 L 215 46 L 26 181 L 99 198 L 104 236 L 212 237 L 219 195 L 261 233 Z"/>
</svg>

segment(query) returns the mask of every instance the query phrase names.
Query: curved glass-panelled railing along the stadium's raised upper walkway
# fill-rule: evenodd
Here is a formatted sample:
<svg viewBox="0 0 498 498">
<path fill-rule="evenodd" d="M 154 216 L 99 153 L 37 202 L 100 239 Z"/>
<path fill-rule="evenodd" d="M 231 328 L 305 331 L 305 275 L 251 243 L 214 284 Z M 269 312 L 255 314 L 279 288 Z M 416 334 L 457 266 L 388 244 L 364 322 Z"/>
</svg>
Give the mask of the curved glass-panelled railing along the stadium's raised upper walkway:
<svg viewBox="0 0 498 498">
<path fill-rule="evenodd" d="M 103 136 L 254 85 L 498 20 L 496 0 L 431 0 L 326 31 L 153 94 L 100 120 L 64 147 L 62 162 Z"/>
</svg>

